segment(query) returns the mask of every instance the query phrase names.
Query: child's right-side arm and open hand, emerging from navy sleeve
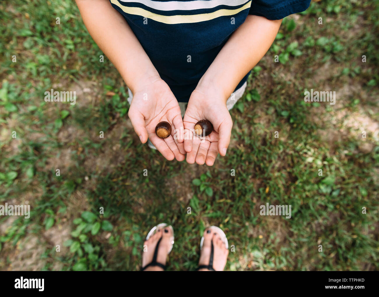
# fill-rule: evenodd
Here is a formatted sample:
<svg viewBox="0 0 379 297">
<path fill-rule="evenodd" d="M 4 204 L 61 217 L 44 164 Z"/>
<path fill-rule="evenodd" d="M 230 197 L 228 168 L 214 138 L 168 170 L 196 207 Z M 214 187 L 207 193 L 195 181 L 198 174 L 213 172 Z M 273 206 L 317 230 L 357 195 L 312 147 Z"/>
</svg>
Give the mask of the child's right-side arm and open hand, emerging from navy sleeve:
<svg viewBox="0 0 379 297">
<path fill-rule="evenodd" d="M 200 79 L 189 98 L 183 118 L 184 127 L 193 129 L 198 120 L 208 119 L 217 133 L 209 136 L 207 145 L 196 140 L 185 140 L 187 162 L 205 162 L 211 166 L 218 153 L 225 156 L 233 126 L 226 101 L 241 79 L 270 48 L 281 22 L 261 16 L 247 16 Z"/>
</svg>

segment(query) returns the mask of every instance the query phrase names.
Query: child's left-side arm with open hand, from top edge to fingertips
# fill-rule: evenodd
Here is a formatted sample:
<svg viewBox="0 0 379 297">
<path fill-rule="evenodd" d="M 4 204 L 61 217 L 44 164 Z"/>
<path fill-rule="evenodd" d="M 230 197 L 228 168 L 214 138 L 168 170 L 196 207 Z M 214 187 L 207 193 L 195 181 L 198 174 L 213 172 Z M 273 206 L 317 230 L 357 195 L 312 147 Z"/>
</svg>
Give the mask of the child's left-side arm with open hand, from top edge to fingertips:
<svg viewBox="0 0 379 297">
<path fill-rule="evenodd" d="M 160 121 L 183 129 L 180 107 L 124 17 L 109 0 L 76 0 L 76 3 L 89 34 L 133 93 L 128 115 L 141 142 L 145 143 L 149 137 L 166 159 L 184 160 L 183 139 L 174 140 L 170 136 L 162 140 L 155 135 L 155 126 Z"/>
</svg>

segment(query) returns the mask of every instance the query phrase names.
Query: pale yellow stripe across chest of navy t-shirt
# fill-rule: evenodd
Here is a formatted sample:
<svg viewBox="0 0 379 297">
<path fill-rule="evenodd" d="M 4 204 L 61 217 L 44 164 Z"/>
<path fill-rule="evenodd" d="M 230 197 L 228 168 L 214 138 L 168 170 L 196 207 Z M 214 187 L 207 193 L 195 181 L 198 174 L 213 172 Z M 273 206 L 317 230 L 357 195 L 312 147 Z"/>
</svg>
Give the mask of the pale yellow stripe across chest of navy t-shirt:
<svg viewBox="0 0 379 297">
<path fill-rule="evenodd" d="M 221 17 L 221 16 L 231 16 L 233 14 L 237 14 L 240 11 L 243 11 L 244 9 L 250 8 L 251 6 L 251 1 L 249 1 L 244 6 L 237 9 L 219 9 L 217 11 L 213 11 L 212 13 L 163 16 L 161 14 L 152 13 L 143 8 L 123 6 L 117 0 L 110 0 L 110 1 L 114 5 L 121 8 L 122 11 L 124 11 L 125 13 L 147 17 L 147 19 L 152 19 L 164 24 L 184 24 L 184 23 L 204 22 L 207 20 L 216 19 L 217 17 Z"/>
</svg>

